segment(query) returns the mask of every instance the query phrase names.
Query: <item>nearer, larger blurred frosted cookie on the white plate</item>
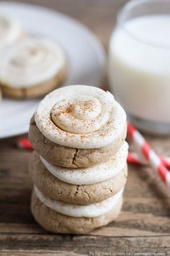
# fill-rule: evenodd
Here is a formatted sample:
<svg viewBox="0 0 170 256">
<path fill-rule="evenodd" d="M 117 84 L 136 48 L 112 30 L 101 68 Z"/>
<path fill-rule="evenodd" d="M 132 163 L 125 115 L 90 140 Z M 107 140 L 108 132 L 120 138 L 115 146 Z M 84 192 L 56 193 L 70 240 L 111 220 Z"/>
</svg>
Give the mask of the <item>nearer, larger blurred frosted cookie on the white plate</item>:
<svg viewBox="0 0 170 256">
<path fill-rule="evenodd" d="M 0 82 L 4 95 L 33 98 L 56 88 L 66 74 L 66 58 L 57 43 L 24 38 L 1 54 Z"/>
</svg>

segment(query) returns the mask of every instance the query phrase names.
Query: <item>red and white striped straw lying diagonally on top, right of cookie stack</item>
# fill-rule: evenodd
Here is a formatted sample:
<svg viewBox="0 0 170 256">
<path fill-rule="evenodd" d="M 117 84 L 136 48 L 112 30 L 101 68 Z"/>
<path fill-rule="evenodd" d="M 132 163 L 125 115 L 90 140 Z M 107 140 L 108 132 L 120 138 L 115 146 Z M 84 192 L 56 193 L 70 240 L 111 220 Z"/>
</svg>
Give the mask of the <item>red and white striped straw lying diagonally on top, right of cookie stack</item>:
<svg viewBox="0 0 170 256">
<path fill-rule="evenodd" d="M 140 153 L 150 163 L 151 167 L 158 173 L 158 176 L 162 181 L 170 186 L 170 172 L 161 162 L 161 159 L 156 155 L 153 149 L 150 147 L 144 137 L 138 132 L 133 124 L 128 123 L 128 137 L 133 140 L 136 148 L 140 150 Z"/>
</svg>

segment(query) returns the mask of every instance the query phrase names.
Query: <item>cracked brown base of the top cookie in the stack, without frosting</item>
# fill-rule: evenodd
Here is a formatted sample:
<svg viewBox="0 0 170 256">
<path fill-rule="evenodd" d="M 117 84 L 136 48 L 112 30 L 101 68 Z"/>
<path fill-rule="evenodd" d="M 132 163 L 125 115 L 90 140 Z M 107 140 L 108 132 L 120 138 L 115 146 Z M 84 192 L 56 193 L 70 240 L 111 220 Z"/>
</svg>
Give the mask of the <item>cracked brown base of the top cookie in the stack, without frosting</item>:
<svg viewBox="0 0 170 256">
<path fill-rule="evenodd" d="M 37 128 L 35 118 L 32 116 L 29 129 L 29 140 L 35 151 L 45 158 L 46 161 L 55 166 L 67 168 L 79 168 L 93 166 L 94 164 L 107 161 L 112 155 L 115 155 L 125 140 L 127 133 L 127 124 L 122 129 L 122 133 L 114 143 L 102 148 L 83 149 L 70 148 L 58 145 L 48 140 L 40 129 Z"/>
</svg>

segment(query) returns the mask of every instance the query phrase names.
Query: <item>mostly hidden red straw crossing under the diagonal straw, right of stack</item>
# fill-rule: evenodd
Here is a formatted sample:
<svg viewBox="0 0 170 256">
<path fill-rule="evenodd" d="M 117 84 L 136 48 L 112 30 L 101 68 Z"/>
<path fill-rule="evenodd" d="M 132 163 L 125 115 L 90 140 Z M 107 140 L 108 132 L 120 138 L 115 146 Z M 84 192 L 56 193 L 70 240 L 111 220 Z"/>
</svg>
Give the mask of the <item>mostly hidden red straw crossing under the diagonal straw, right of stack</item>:
<svg viewBox="0 0 170 256">
<path fill-rule="evenodd" d="M 159 158 L 161 159 L 161 162 L 164 164 L 164 166 L 166 166 L 166 168 L 170 168 L 170 158 L 168 156 L 159 156 Z M 131 164 L 147 164 L 147 161 L 141 158 L 141 156 L 135 152 L 128 153 L 127 162 Z"/>
</svg>

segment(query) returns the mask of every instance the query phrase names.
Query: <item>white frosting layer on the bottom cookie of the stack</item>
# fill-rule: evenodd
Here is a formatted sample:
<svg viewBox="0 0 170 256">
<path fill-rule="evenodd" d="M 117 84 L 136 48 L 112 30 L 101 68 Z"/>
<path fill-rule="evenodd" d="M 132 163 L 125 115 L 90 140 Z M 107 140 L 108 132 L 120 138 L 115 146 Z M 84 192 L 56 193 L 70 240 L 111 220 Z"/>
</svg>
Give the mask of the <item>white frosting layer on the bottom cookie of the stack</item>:
<svg viewBox="0 0 170 256">
<path fill-rule="evenodd" d="M 120 200 L 123 190 L 124 188 L 122 188 L 116 195 L 113 195 L 112 197 L 109 197 L 102 202 L 96 202 L 90 205 L 75 205 L 58 200 L 52 200 L 49 197 L 43 195 L 42 192 L 40 192 L 40 190 L 35 187 L 35 193 L 44 205 L 57 211 L 58 213 L 76 218 L 94 218 L 108 213 L 109 210 L 112 210 L 112 208 L 115 207 L 118 200 Z"/>
</svg>

